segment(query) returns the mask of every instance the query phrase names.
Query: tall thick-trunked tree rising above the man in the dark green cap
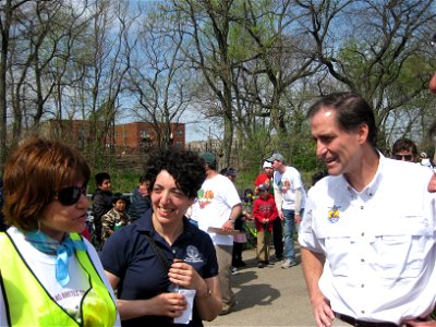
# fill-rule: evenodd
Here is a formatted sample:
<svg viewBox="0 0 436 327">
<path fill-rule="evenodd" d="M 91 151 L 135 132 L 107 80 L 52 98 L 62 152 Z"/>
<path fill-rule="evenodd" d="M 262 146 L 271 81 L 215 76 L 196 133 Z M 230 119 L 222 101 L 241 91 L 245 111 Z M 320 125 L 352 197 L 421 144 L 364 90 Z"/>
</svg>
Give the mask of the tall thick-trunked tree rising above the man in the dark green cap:
<svg viewBox="0 0 436 327">
<path fill-rule="evenodd" d="M 186 32 L 192 44 L 184 52 L 193 66 L 202 72 L 205 83 L 211 89 L 220 106 L 223 125 L 223 162 L 229 165 L 233 143 L 233 96 L 232 66 L 229 33 L 234 24 L 233 0 L 183 0 L 172 1 L 175 12 L 189 20 Z M 194 51 L 191 51 L 193 49 Z"/>
</svg>

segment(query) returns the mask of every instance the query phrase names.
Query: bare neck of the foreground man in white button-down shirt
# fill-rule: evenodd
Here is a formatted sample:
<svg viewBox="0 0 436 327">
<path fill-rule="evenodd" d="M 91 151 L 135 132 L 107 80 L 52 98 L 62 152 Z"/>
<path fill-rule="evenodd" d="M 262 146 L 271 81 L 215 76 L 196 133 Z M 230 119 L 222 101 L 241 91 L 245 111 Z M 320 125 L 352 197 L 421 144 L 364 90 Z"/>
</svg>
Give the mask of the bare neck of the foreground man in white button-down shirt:
<svg viewBox="0 0 436 327">
<path fill-rule="evenodd" d="M 379 161 L 378 153 L 371 148 L 371 152 L 365 152 L 362 155 L 353 171 L 344 173 L 347 181 L 355 191 L 361 192 L 374 179 Z"/>
</svg>

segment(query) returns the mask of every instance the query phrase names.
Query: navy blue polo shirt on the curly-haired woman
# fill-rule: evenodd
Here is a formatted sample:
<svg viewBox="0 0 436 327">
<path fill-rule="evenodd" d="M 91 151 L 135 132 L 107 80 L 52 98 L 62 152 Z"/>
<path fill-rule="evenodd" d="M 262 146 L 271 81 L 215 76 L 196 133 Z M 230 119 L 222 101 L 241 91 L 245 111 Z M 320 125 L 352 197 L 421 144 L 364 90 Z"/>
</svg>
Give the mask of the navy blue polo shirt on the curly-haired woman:
<svg viewBox="0 0 436 327">
<path fill-rule="evenodd" d="M 144 237 L 148 233 L 169 263 L 174 258 L 192 265 L 199 276 L 210 278 L 218 275 L 218 263 L 210 237 L 183 218 L 183 233 L 172 245 L 159 235 L 152 222 L 153 210 L 147 210 L 137 223 L 116 231 L 105 243 L 100 259 L 105 270 L 120 278 L 118 298 L 122 300 L 152 299 L 166 292 L 169 286 L 168 271 L 160 264 L 153 246 Z M 172 318 L 144 316 L 123 320 L 123 326 L 177 326 Z M 182 325 L 181 325 L 182 326 Z M 203 326 L 196 314 L 183 326 Z"/>
</svg>

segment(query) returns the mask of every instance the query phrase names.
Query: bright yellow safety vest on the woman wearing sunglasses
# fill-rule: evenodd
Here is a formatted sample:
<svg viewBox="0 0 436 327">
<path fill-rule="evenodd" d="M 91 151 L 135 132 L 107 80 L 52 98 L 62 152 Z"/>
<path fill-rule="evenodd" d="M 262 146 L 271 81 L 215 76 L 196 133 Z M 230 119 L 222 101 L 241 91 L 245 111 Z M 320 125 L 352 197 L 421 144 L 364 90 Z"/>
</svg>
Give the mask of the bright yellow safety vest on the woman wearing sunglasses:
<svg viewBox="0 0 436 327">
<path fill-rule="evenodd" d="M 70 235 L 72 240 L 81 240 L 76 233 Z M 81 302 L 81 322 L 50 296 L 12 239 L 4 232 L 0 233 L 0 287 L 9 326 L 113 326 L 117 307 L 106 284 L 86 251 L 76 251 L 75 255 L 90 284 Z"/>
</svg>

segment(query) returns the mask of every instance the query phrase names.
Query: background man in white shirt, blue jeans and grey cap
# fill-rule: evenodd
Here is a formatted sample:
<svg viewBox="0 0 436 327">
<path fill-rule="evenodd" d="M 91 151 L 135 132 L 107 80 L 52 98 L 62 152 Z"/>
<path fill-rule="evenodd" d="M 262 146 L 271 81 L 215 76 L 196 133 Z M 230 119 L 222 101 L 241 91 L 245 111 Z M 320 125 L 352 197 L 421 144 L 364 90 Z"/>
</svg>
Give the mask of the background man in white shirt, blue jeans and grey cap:
<svg viewBox="0 0 436 327">
<path fill-rule="evenodd" d="M 306 193 L 300 172 L 295 168 L 287 166 L 281 154 L 272 154 L 267 161 L 272 164 L 274 197 L 279 218 L 284 221 L 284 262 L 281 268 L 288 269 L 298 264 L 293 246 L 293 230 L 295 223 L 301 222 Z"/>
</svg>

